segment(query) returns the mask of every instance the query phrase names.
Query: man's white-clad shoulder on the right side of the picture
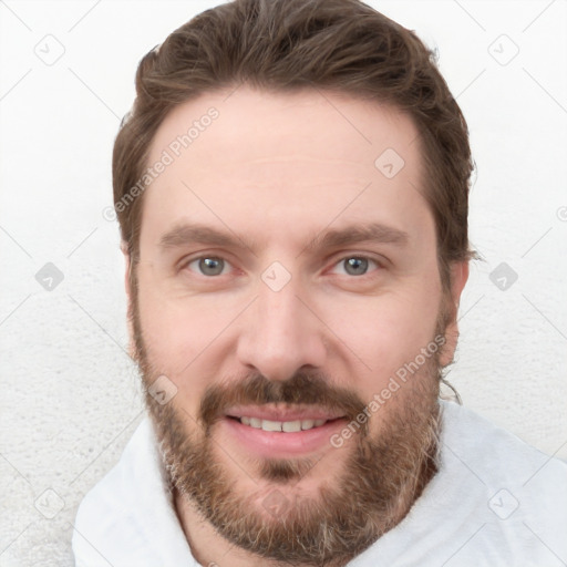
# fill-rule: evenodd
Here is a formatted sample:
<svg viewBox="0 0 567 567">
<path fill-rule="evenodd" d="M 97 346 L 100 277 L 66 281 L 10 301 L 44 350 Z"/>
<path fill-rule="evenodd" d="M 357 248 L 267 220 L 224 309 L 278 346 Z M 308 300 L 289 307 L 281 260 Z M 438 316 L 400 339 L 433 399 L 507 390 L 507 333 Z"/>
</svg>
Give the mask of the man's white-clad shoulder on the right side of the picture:
<svg viewBox="0 0 567 567">
<path fill-rule="evenodd" d="M 475 412 L 441 402 L 439 472 L 352 567 L 559 566 L 567 465 Z"/>
</svg>

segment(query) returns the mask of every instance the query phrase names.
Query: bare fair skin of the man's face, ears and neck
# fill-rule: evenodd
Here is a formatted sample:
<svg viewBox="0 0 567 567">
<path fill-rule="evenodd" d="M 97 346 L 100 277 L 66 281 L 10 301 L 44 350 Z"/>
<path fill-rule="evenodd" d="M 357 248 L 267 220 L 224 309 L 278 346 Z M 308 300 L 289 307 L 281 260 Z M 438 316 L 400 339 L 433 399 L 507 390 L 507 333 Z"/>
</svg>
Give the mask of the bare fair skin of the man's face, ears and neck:
<svg viewBox="0 0 567 567">
<path fill-rule="evenodd" d="M 395 109 L 350 96 L 240 86 L 229 96 L 208 93 L 175 109 L 155 135 L 148 163 L 212 106 L 218 118 L 144 194 L 136 303 L 145 355 L 155 374 L 177 388 L 169 403 L 190 416 L 187 433 L 197 434 L 194 420 L 208 385 L 230 384 L 251 371 L 282 381 L 302 369 L 321 371 L 369 403 L 431 342 L 444 298 L 434 220 L 420 189 L 416 128 Z M 374 165 L 386 148 L 405 162 L 392 178 Z M 174 228 L 196 224 L 234 243 L 161 244 Z M 403 241 L 309 246 L 329 230 L 369 224 L 405 235 Z M 202 257 L 225 259 L 223 274 L 199 272 Z M 368 274 L 348 274 L 343 260 L 352 257 L 372 260 Z M 279 291 L 262 280 L 276 261 L 290 277 Z M 453 358 L 454 306 L 466 278 L 466 262 L 455 264 L 441 365 Z M 409 381 L 388 400 L 386 411 L 370 417 L 373 435 L 415 388 Z M 235 489 L 258 495 L 251 511 L 257 514 L 265 514 L 261 501 L 275 486 L 290 497 L 317 498 L 323 482 L 340 483 L 353 443 L 340 450 L 322 444 L 308 455 L 317 456 L 309 474 L 276 484 L 260 476 L 264 454 L 252 454 L 223 423 L 212 434 L 215 457 Z M 179 494 L 176 507 L 202 565 L 221 565 L 227 553 L 236 567 L 268 565 L 231 548 Z"/>
</svg>

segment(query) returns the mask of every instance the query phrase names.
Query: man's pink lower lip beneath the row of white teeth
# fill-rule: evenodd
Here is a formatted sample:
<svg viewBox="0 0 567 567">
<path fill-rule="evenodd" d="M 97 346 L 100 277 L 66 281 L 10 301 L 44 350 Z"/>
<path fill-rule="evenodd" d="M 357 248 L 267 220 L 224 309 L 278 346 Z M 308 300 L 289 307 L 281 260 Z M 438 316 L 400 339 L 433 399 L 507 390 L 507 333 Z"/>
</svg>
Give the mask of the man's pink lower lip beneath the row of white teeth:
<svg viewBox="0 0 567 567">
<path fill-rule="evenodd" d="M 219 425 L 237 440 L 247 451 L 261 456 L 290 457 L 306 455 L 332 445 L 330 437 L 344 426 L 346 420 L 328 421 L 319 427 L 293 433 L 264 431 L 245 425 L 238 420 L 225 417 Z"/>
</svg>

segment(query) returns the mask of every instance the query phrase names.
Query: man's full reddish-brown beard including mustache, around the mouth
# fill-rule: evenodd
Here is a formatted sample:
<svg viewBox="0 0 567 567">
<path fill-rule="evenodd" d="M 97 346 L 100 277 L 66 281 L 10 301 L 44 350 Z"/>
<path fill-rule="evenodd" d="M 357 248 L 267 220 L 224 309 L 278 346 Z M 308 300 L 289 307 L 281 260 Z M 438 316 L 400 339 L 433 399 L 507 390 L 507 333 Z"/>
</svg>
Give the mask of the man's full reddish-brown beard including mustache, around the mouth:
<svg viewBox="0 0 567 567">
<path fill-rule="evenodd" d="M 135 303 L 132 320 L 136 360 L 147 388 L 164 372 L 147 355 Z M 347 425 L 364 413 L 368 401 L 321 373 L 298 372 L 286 381 L 250 373 L 212 384 L 195 419 L 176 406 L 175 398 L 162 405 L 147 390 L 146 406 L 172 489 L 227 542 L 274 561 L 340 566 L 396 526 L 436 473 L 440 378 L 435 353 L 392 394 L 395 400 L 385 402 L 362 425 L 357 423 L 350 443 L 332 450 L 338 451 L 336 462 L 342 455 L 333 475 L 321 475 L 318 467 L 324 465 L 316 456 L 247 456 L 259 481 L 248 493 L 238 483 L 241 471 L 230 470 L 235 463 L 215 435 L 226 409 L 234 404 L 313 404 L 340 410 Z M 324 456 L 329 458 L 329 452 Z M 306 494 L 302 481 L 312 484 L 313 473 L 319 475 L 315 476 L 317 489 Z"/>
</svg>

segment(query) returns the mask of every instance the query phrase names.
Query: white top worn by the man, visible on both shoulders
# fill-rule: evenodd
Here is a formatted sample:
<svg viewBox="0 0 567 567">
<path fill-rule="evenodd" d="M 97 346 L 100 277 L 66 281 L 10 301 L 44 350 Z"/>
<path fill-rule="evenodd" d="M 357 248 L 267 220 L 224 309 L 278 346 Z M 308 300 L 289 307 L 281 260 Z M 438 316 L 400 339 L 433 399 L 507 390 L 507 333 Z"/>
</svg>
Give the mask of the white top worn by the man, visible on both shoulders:
<svg viewBox="0 0 567 567">
<path fill-rule="evenodd" d="M 567 464 L 441 402 L 439 473 L 408 516 L 349 567 L 567 565 Z M 76 567 L 198 567 L 146 417 L 79 507 Z"/>
</svg>

